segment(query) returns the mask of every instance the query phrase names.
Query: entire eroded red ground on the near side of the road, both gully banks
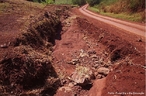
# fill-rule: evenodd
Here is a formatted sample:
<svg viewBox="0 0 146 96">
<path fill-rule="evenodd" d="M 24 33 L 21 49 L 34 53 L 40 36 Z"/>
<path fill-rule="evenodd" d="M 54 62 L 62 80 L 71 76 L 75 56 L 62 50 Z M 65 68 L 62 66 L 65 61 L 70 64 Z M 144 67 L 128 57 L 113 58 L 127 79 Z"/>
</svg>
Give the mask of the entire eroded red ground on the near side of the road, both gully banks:
<svg viewBox="0 0 146 96">
<path fill-rule="evenodd" d="M 7 3 L 9 16 L 0 15 L 0 95 L 144 96 L 143 39 L 77 8 L 35 5 L 30 14 L 22 7 L 28 2 Z"/>
</svg>

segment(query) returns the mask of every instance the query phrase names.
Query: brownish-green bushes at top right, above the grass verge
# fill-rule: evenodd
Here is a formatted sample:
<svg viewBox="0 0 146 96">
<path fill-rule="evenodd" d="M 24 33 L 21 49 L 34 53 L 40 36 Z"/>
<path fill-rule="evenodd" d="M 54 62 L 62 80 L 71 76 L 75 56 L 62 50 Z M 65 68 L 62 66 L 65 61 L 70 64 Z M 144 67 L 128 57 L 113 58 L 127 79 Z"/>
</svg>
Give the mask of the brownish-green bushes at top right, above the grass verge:
<svg viewBox="0 0 146 96">
<path fill-rule="evenodd" d="M 96 4 L 97 5 L 97 4 Z M 145 0 L 100 0 L 97 5 L 104 12 L 139 12 L 145 9 Z"/>
</svg>

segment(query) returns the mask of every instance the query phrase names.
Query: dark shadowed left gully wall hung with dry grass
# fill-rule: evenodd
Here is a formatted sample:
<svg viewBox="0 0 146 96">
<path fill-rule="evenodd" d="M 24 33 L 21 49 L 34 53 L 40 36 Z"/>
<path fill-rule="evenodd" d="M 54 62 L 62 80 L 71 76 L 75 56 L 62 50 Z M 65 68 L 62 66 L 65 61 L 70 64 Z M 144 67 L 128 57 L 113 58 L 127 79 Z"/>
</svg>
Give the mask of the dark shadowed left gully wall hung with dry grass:
<svg viewBox="0 0 146 96">
<path fill-rule="evenodd" d="M 27 29 L 11 42 L 11 52 L 0 61 L 0 95 L 55 93 L 60 81 L 51 65 L 50 54 L 60 26 L 55 13 L 43 11 L 31 17 Z M 38 90 L 25 92 L 34 88 Z M 46 93 L 46 90 L 51 91 Z"/>
</svg>

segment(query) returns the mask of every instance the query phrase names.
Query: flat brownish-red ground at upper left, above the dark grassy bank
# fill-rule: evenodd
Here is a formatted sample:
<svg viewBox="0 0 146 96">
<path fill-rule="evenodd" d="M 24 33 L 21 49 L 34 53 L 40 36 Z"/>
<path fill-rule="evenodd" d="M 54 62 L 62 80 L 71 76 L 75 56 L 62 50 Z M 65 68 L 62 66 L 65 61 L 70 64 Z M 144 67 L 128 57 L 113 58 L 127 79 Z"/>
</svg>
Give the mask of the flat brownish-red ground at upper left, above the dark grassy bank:
<svg viewBox="0 0 146 96">
<path fill-rule="evenodd" d="M 38 14 L 40 9 L 29 5 L 30 3 L 22 1 L 6 0 L 2 3 L 8 4 L 0 14 L 0 45 L 7 45 L 8 48 L 1 48 L 0 59 L 3 58 L 9 51 L 11 52 L 12 42 L 19 34 L 26 29 L 26 24 L 29 19 Z M 25 4 L 26 3 L 26 4 Z M 31 13 L 30 13 L 30 8 Z M 31 16 L 32 15 L 32 16 Z M 7 52 L 8 51 L 8 52 Z"/>
</svg>

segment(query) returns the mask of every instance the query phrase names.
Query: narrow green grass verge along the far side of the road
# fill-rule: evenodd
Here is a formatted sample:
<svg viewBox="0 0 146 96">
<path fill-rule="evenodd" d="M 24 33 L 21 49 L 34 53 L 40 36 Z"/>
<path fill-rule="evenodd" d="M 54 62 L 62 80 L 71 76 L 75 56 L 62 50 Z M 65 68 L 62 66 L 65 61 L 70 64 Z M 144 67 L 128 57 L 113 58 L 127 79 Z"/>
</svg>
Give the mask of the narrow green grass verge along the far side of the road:
<svg viewBox="0 0 146 96">
<path fill-rule="evenodd" d="M 134 21 L 134 22 L 142 22 L 142 15 L 141 13 L 133 13 L 133 14 L 128 14 L 128 13 L 119 13 L 119 14 L 114 14 L 110 12 L 103 12 L 100 11 L 99 9 L 95 7 L 89 7 L 88 10 L 91 10 L 93 12 L 99 13 L 104 16 L 109 16 L 117 19 L 122 19 L 122 20 L 127 20 L 127 21 Z"/>
</svg>

